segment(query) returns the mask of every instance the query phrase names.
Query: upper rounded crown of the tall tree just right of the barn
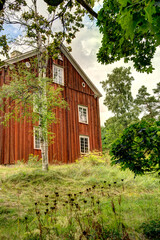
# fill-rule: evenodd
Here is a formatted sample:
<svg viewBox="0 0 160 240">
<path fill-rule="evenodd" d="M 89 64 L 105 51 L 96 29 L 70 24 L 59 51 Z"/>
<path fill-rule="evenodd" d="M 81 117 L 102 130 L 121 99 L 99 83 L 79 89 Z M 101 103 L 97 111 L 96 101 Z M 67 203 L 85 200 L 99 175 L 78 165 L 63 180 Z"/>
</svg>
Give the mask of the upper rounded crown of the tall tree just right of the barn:
<svg viewBox="0 0 160 240">
<path fill-rule="evenodd" d="M 107 80 L 102 81 L 102 87 L 106 92 L 104 105 L 117 117 L 131 110 L 133 97 L 131 85 L 134 78 L 129 68 L 115 68 L 111 74 L 107 74 Z"/>
</svg>

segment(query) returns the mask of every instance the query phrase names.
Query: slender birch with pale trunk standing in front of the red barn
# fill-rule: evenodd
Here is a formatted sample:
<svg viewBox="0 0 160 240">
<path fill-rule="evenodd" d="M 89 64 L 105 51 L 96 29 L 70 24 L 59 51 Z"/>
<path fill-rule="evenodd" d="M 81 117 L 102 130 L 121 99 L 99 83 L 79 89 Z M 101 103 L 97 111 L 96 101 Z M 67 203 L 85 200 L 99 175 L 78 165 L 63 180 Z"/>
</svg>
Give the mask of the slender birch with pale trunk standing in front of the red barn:
<svg viewBox="0 0 160 240">
<path fill-rule="evenodd" d="M 14 103 L 16 101 L 16 103 L 26 106 L 31 103 L 30 100 L 32 100 L 32 104 L 33 100 L 36 102 L 43 170 L 48 170 L 48 121 L 50 123 L 50 120 L 54 119 L 53 116 L 51 116 L 51 112 L 48 112 L 48 108 L 50 107 L 47 101 L 48 95 L 52 99 L 51 91 L 49 94 L 47 92 L 48 86 L 50 86 L 49 79 L 46 77 L 48 58 L 49 56 L 57 58 L 60 54 L 60 47 L 63 41 L 65 40 L 66 43 L 70 44 L 72 39 L 75 38 L 76 32 L 83 27 L 82 18 L 85 10 L 76 1 L 63 1 L 58 7 L 49 5 L 46 12 L 47 14 L 45 15 L 39 13 L 37 0 L 31 0 L 31 4 L 25 0 L 6 1 L 5 8 L 3 12 L 1 12 L 1 23 L 16 24 L 23 30 L 23 34 L 16 40 L 16 44 L 29 45 L 32 46 L 32 49 L 37 50 L 36 65 L 38 78 L 34 78 L 36 79 L 36 84 L 32 84 L 31 78 L 33 78 L 33 76 L 30 76 L 29 73 L 25 73 L 22 70 L 20 75 L 26 74 L 25 76 L 29 79 L 29 85 L 26 85 L 28 80 L 22 80 L 23 84 L 20 87 L 20 95 L 15 95 L 14 92 L 18 91 L 16 85 L 17 79 L 15 77 L 16 75 L 14 75 L 11 83 L 2 87 L 1 100 L 4 97 L 3 93 L 7 91 L 8 97 L 10 97 Z M 57 21 L 58 28 L 56 28 Z M 5 53 L 7 53 L 7 51 L 5 51 Z M 56 103 L 53 103 L 53 105 L 56 105 L 58 102 L 60 107 L 64 107 L 65 103 L 59 95 L 61 90 L 58 89 L 57 91 L 57 94 L 53 94 L 53 98 L 55 95 L 57 96 Z M 26 93 L 26 97 L 24 97 L 24 92 Z M 23 97 L 21 97 L 22 95 Z M 28 97 L 29 95 L 32 96 Z M 18 96 L 18 101 L 16 96 Z M 60 102 L 60 99 L 62 102 Z M 10 109 L 11 114 L 6 116 L 8 119 L 15 116 L 13 114 L 13 107 Z M 3 109 L 1 108 L 1 110 Z M 24 111 L 23 116 L 24 115 L 27 115 L 27 111 Z"/>
</svg>

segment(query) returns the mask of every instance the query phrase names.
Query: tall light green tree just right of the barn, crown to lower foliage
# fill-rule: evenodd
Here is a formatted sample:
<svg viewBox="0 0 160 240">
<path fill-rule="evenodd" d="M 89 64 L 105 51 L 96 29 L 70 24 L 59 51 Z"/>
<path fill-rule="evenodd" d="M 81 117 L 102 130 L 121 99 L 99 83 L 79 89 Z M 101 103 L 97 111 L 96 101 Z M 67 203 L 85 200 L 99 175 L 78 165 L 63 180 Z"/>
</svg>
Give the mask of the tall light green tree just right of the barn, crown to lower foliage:
<svg viewBox="0 0 160 240">
<path fill-rule="evenodd" d="M 105 121 L 103 129 L 103 150 L 110 149 L 111 144 L 131 123 L 138 120 L 139 108 L 134 104 L 131 85 L 134 78 L 130 68 L 115 68 L 102 82 L 106 93 L 104 105 L 114 114 Z"/>
</svg>

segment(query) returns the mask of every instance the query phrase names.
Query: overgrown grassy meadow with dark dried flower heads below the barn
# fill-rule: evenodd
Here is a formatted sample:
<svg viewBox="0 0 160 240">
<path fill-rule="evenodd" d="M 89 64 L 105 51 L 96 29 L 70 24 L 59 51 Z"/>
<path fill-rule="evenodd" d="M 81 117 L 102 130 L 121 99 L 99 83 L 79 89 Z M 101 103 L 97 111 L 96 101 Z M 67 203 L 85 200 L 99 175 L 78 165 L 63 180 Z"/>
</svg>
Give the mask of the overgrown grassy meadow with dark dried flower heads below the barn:
<svg viewBox="0 0 160 240">
<path fill-rule="evenodd" d="M 160 239 L 160 177 L 110 166 L 107 156 L 70 165 L 0 166 L 0 239 Z"/>
</svg>

